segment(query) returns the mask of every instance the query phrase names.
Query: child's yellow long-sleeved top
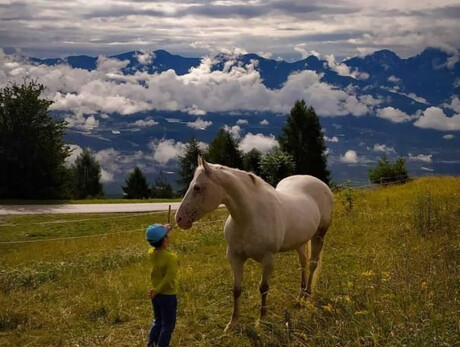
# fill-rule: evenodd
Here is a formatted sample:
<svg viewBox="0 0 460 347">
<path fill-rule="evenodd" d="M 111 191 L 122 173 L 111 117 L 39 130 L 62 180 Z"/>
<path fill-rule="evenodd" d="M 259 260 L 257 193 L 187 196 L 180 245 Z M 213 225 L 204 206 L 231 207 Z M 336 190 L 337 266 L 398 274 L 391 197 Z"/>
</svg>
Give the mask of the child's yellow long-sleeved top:
<svg viewBox="0 0 460 347">
<path fill-rule="evenodd" d="M 148 253 L 152 270 L 150 280 L 153 292 L 156 294 L 174 295 L 179 287 L 177 255 L 167 249 L 155 250 L 151 248 Z"/>
</svg>

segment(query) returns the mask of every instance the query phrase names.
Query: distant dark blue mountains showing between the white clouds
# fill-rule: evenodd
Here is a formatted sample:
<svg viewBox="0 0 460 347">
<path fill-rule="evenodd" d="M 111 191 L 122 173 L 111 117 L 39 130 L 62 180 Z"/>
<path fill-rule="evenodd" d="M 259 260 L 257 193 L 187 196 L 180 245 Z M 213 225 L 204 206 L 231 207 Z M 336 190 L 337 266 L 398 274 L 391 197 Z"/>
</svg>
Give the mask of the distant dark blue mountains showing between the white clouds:
<svg viewBox="0 0 460 347">
<path fill-rule="evenodd" d="M 153 54 L 132 51 L 109 58 L 127 61 L 122 69 L 124 74 L 135 74 L 139 71 L 152 74 L 172 69 L 177 75 L 184 75 L 191 68 L 198 67 L 202 61 L 201 58 L 182 57 L 164 50 L 154 51 Z M 269 89 L 282 88 L 292 73 L 310 70 L 321 76 L 322 82 L 338 90 L 353 89 L 357 98 L 371 95 L 379 101 L 380 109 L 391 106 L 407 115 L 414 115 L 430 106 L 436 106 L 443 108 L 446 114 L 452 115 L 453 111 L 445 105 L 460 95 L 460 62 L 453 58 L 452 55 L 436 48 L 427 48 L 419 55 L 407 59 L 398 57 L 390 50 L 381 50 L 342 62 L 328 62 L 316 56 L 286 62 L 266 59 L 257 54 L 237 57 L 220 54 L 213 58 L 211 69 L 223 71 L 229 66 L 252 64 L 259 72 L 262 83 Z M 45 65 L 68 64 L 73 68 L 86 70 L 94 70 L 98 64 L 97 57 L 89 56 L 69 56 L 63 59 L 30 58 L 30 61 Z M 56 113 L 56 116 L 63 115 Z M 329 166 L 337 182 L 343 182 L 347 178 L 365 182 L 367 170 L 375 165 L 383 151 L 387 151 L 390 157 L 403 155 L 410 158 L 408 166 L 412 174 L 460 174 L 460 135 L 455 131 L 455 135 L 450 134 L 446 137 L 448 133 L 414 127 L 411 122 L 393 123 L 379 117 L 351 115 L 321 116 L 323 129 L 329 138 L 326 143 L 330 150 Z M 148 128 L 132 127 L 133 122 L 152 117 L 157 125 Z M 238 110 L 226 113 L 208 112 L 203 118 L 207 122 L 212 122 L 212 125 L 205 127 L 205 131 L 188 126 L 196 117 L 185 112 L 156 110 L 154 113 L 133 114 L 129 118 L 112 114 L 110 117 L 99 117 L 99 127 L 91 133 L 70 129 L 67 139 L 71 143 L 96 151 L 110 147 L 117 151 L 119 156 L 123 156 L 136 151 L 147 153 L 151 150 L 149 142 L 161 139 L 184 143 L 194 135 L 199 141 L 209 143 L 217 130 L 226 125 L 239 124 L 242 136 L 248 133 L 277 136 L 285 122 L 285 117 L 276 113 Z M 263 125 L 264 123 L 269 125 Z M 116 131 L 113 131 L 114 129 Z M 355 152 L 359 160 L 346 160 L 344 155 L 350 150 Z M 146 165 L 151 163 L 146 162 Z M 161 169 L 175 171 L 177 168 L 174 165 L 177 165 L 176 162 L 170 162 Z M 108 192 L 120 191 L 120 182 L 123 182 L 132 167 L 125 169 L 116 172 L 114 182 L 108 185 Z M 177 176 L 170 177 L 174 183 Z"/>
</svg>

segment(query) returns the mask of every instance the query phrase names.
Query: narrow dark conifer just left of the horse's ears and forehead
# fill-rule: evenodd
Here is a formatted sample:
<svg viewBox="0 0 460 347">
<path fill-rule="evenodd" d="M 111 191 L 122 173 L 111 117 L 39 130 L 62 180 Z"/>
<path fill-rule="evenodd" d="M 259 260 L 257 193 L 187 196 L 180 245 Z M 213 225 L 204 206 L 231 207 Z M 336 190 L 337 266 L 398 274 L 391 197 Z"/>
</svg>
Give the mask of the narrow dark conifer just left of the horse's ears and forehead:
<svg viewBox="0 0 460 347">
<path fill-rule="evenodd" d="M 190 182 L 193 179 L 195 169 L 198 166 L 198 156 L 203 155 L 198 141 L 192 137 L 185 145 L 184 154 L 179 156 L 179 184 L 178 193 L 182 196 L 188 189 Z"/>
</svg>

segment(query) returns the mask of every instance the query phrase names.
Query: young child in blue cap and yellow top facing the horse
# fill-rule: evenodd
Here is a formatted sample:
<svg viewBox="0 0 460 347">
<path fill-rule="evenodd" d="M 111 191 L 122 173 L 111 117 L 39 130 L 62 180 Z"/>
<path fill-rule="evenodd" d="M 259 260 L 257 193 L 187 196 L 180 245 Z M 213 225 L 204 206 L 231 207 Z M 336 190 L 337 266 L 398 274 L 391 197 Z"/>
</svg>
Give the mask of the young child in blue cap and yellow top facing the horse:
<svg viewBox="0 0 460 347">
<path fill-rule="evenodd" d="M 152 289 L 148 291 L 148 297 L 152 300 L 155 316 L 148 335 L 148 347 L 169 346 L 176 325 L 179 263 L 177 255 L 167 249 L 171 229 L 169 224 L 153 224 L 147 228 L 145 234 L 147 242 L 154 247 L 148 253 L 152 265 Z"/>
</svg>

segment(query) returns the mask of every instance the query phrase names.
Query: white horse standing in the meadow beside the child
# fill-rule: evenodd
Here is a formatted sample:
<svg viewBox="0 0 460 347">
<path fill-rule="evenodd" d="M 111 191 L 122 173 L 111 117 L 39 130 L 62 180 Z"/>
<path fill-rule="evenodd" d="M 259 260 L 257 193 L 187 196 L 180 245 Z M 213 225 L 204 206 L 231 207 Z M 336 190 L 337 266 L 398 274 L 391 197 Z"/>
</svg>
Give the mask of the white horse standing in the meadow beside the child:
<svg viewBox="0 0 460 347">
<path fill-rule="evenodd" d="M 193 222 L 224 204 L 227 258 L 233 270 L 233 314 L 226 330 L 239 319 L 243 266 L 248 258 L 262 264 L 260 319 L 266 314 L 269 279 L 277 252 L 296 250 L 301 265 L 300 296 L 311 293 L 313 275 L 332 222 L 333 195 L 312 176 L 290 176 L 276 189 L 246 171 L 207 163 L 198 157 L 192 182 L 176 212 L 176 223 L 190 229 Z M 311 240 L 310 271 L 305 280 L 307 242 Z"/>
</svg>

